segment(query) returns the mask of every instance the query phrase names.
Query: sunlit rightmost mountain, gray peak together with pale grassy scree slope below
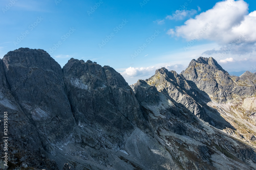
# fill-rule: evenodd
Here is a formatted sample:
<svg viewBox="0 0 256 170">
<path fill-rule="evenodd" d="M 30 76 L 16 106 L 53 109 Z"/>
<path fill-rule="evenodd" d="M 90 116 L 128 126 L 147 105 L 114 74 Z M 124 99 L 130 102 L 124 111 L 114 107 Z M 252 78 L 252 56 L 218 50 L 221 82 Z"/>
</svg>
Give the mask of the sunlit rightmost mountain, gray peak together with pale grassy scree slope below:
<svg viewBox="0 0 256 170">
<path fill-rule="evenodd" d="M 181 74 L 210 97 L 207 106 L 216 109 L 233 127 L 223 127 L 226 133 L 256 144 L 255 74 L 247 71 L 240 77 L 230 76 L 212 57 L 192 60 Z"/>
</svg>

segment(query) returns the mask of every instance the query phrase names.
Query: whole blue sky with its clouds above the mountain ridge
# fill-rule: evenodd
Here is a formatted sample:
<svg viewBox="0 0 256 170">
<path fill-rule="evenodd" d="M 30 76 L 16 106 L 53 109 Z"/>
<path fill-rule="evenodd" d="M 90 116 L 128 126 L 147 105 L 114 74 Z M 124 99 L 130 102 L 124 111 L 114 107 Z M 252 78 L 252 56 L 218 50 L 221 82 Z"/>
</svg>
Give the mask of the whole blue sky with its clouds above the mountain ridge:
<svg viewBox="0 0 256 170">
<path fill-rule="evenodd" d="M 109 65 L 129 84 L 160 67 L 180 73 L 200 56 L 230 72 L 256 71 L 253 0 L 2 0 L 0 6 L 1 58 L 40 48 L 61 67 L 70 58 Z"/>
</svg>

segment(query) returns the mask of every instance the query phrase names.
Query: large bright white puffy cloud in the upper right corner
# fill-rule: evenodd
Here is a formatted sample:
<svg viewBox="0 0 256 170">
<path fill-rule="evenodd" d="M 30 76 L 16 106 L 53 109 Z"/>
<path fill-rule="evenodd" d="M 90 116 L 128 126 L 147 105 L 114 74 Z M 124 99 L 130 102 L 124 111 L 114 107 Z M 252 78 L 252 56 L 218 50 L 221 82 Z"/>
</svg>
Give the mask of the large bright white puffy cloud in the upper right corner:
<svg viewBox="0 0 256 170">
<path fill-rule="evenodd" d="M 176 36 L 206 39 L 221 44 L 256 42 L 256 11 L 248 14 L 248 4 L 243 0 L 227 0 L 187 20 L 176 27 Z"/>
</svg>

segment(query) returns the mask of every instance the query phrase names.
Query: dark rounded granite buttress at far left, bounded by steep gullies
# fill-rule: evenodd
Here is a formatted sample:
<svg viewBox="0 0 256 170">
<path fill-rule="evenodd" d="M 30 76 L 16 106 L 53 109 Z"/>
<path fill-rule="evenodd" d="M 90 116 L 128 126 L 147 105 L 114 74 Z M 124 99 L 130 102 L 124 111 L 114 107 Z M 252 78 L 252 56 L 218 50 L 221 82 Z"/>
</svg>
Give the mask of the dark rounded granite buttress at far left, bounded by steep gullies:
<svg viewBox="0 0 256 170">
<path fill-rule="evenodd" d="M 75 125 L 60 65 L 46 51 L 29 48 L 10 51 L 3 63 L 12 95 L 44 138 L 43 147 L 54 154 L 51 143 Z"/>
</svg>

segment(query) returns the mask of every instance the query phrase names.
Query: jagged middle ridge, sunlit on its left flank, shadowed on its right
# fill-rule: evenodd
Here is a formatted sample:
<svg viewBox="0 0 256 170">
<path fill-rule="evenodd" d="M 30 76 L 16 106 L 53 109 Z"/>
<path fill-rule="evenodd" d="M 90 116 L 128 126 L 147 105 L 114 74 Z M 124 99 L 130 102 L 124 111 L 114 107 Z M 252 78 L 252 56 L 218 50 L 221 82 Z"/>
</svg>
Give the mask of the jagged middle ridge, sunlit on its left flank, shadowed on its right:
<svg viewBox="0 0 256 170">
<path fill-rule="evenodd" d="M 232 128 L 214 108 L 207 106 L 206 102 L 211 101 L 208 94 L 201 91 L 194 82 L 186 80 L 183 74 L 179 75 L 175 71 L 161 68 L 145 81 L 149 85 L 155 86 L 159 92 L 167 94 L 176 102 L 181 103 L 199 119 L 219 129 Z"/>
</svg>

